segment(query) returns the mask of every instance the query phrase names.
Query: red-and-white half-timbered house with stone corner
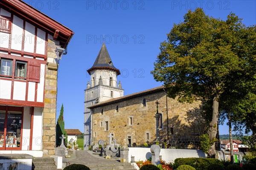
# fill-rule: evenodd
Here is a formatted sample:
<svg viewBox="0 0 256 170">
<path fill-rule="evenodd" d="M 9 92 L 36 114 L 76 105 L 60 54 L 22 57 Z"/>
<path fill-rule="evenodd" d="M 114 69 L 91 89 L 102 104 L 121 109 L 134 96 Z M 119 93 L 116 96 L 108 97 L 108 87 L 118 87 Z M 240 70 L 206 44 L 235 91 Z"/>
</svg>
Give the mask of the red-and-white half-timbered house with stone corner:
<svg viewBox="0 0 256 170">
<path fill-rule="evenodd" d="M 22 0 L 0 1 L 1 154 L 55 154 L 56 50 L 73 34 Z"/>
</svg>

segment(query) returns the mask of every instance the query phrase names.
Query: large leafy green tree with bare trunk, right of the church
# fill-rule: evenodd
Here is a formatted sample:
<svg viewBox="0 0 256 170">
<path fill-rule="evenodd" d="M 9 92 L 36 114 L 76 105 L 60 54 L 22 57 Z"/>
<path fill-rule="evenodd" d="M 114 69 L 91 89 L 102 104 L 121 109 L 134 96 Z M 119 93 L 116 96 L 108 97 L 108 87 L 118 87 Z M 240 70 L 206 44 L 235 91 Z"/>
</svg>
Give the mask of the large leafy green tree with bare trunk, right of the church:
<svg viewBox="0 0 256 170">
<path fill-rule="evenodd" d="M 218 130 L 221 95 L 234 79 L 245 79 L 246 47 L 241 43 L 246 38 L 242 34 L 245 29 L 235 14 L 221 20 L 207 16 L 201 8 L 189 10 L 183 22 L 174 24 L 167 41 L 160 44 L 160 54 L 151 71 L 154 79 L 169 88 L 170 97 L 211 105 L 205 110 L 210 141 L 215 141 Z M 215 157 L 215 142 L 207 155 Z"/>
</svg>

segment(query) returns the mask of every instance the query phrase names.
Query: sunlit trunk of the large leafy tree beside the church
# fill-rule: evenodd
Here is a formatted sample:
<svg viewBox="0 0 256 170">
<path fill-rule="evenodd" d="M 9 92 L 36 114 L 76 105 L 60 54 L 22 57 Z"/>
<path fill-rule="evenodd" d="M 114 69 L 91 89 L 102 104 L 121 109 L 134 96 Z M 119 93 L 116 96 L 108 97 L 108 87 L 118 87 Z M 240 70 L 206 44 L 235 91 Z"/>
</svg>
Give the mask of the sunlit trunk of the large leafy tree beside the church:
<svg viewBox="0 0 256 170">
<path fill-rule="evenodd" d="M 212 121 L 209 125 L 209 139 L 215 140 L 216 134 L 217 134 L 217 127 L 218 127 L 218 105 L 219 105 L 219 95 L 216 95 L 213 98 L 212 102 Z M 213 142 L 207 152 L 207 157 L 209 158 L 215 158 L 215 142 Z"/>
</svg>

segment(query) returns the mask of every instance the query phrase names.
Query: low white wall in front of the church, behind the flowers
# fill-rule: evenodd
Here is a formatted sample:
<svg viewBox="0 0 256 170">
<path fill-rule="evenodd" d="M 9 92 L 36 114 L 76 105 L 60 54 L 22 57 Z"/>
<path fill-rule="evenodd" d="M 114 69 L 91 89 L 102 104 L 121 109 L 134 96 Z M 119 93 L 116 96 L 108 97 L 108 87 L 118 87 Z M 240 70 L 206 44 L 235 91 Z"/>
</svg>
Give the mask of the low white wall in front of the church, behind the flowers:
<svg viewBox="0 0 256 170">
<path fill-rule="evenodd" d="M 129 147 L 129 162 L 131 162 L 131 156 L 134 156 L 135 161 L 145 161 L 152 157 L 150 148 L 144 147 Z M 188 149 L 161 149 L 160 155 L 162 160 L 174 162 L 176 158 L 206 158 L 205 153 L 202 150 L 188 150 Z"/>
</svg>

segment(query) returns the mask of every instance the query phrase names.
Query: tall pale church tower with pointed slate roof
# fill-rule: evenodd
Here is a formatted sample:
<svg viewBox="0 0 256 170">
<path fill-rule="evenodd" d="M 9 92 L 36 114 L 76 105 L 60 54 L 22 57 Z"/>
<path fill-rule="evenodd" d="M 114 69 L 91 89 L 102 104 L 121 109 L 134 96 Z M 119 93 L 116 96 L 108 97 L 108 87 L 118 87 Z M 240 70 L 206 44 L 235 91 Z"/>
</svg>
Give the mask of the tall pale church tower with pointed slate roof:
<svg viewBox="0 0 256 170">
<path fill-rule="evenodd" d="M 98 102 L 103 102 L 124 95 L 121 82 L 117 84 L 119 69 L 115 68 L 103 43 L 93 66 L 87 70 L 90 81 L 84 90 L 84 149 L 87 150 L 92 141 L 92 112 L 88 108 Z"/>
</svg>

